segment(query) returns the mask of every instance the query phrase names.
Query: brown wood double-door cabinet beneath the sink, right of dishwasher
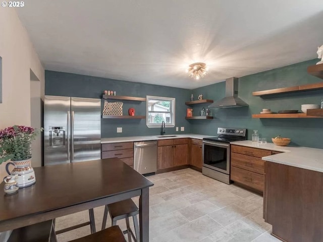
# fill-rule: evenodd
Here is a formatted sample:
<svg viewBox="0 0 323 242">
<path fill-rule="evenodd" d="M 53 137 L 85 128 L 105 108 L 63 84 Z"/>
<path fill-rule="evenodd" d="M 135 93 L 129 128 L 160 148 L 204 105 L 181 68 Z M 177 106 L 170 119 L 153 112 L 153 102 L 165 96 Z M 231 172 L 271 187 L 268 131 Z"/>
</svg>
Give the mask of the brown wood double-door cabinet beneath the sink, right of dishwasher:
<svg viewBox="0 0 323 242">
<path fill-rule="evenodd" d="M 157 170 L 188 164 L 188 139 L 158 140 Z"/>
</svg>

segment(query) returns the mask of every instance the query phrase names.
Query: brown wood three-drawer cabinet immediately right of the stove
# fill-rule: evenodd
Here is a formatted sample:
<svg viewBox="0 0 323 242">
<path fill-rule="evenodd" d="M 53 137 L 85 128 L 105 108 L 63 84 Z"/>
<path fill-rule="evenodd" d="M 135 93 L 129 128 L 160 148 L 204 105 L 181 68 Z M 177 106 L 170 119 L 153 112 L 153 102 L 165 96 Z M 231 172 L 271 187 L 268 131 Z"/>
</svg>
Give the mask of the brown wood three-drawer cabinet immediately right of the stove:
<svg viewBox="0 0 323 242">
<path fill-rule="evenodd" d="M 230 179 L 253 190 L 264 191 L 264 166 L 261 157 L 281 152 L 231 145 Z"/>
</svg>

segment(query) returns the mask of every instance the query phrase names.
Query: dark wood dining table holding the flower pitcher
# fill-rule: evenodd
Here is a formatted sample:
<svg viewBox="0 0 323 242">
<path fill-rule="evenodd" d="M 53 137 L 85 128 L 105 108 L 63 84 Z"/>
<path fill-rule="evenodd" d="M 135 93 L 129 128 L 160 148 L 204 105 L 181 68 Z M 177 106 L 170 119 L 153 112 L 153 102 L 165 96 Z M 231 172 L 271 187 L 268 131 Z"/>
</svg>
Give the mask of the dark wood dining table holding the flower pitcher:
<svg viewBox="0 0 323 242">
<path fill-rule="evenodd" d="M 140 196 L 140 241 L 149 241 L 153 183 L 118 158 L 35 167 L 36 183 L 6 195 L 0 185 L 0 232 Z"/>
</svg>

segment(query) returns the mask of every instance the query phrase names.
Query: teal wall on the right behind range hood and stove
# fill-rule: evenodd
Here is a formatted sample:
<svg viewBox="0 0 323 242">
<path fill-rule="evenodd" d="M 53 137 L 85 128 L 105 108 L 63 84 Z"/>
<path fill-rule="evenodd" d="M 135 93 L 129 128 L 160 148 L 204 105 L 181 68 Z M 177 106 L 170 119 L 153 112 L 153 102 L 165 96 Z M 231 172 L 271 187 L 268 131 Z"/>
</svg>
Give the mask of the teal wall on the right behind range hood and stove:
<svg viewBox="0 0 323 242">
<path fill-rule="evenodd" d="M 323 90 L 252 96 L 253 91 L 321 82 L 321 79 L 307 74 L 307 67 L 316 62 L 317 59 L 313 59 L 239 78 L 239 97 L 249 107 L 213 108 L 213 120 L 190 121 L 192 133 L 216 135 L 218 127 L 246 128 L 249 140 L 253 130 L 258 130 L 260 137 L 267 138 L 270 142 L 272 137 L 281 135 L 291 138 L 291 145 L 294 146 L 323 148 L 323 118 L 251 118 L 251 114 L 259 113 L 262 108 L 270 108 L 275 112 L 286 109 L 300 111 L 301 104 L 320 104 Z M 203 94 L 205 99 L 219 100 L 225 96 L 225 82 L 194 89 L 193 94 Z M 196 109 L 198 111 L 200 108 Z"/>
</svg>

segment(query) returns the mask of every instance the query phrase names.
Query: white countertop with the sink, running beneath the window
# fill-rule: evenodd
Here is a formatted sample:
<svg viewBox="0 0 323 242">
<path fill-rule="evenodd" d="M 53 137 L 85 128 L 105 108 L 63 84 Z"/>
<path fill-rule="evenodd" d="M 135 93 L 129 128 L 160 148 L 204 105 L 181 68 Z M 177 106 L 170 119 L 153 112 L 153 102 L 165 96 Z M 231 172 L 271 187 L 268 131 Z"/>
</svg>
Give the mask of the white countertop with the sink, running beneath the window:
<svg viewBox="0 0 323 242">
<path fill-rule="evenodd" d="M 197 134 L 183 134 L 177 135 L 175 137 L 167 137 L 169 135 L 164 135 L 164 137 L 154 136 L 131 136 L 131 137 L 116 137 L 116 138 L 102 138 L 101 144 L 116 143 L 116 142 L 133 142 L 133 141 L 148 141 L 148 140 L 166 140 L 166 139 L 181 139 L 181 138 L 192 138 L 192 139 L 203 139 L 208 137 L 214 137 L 209 135 L 197 135 Z"/>
</svg>

